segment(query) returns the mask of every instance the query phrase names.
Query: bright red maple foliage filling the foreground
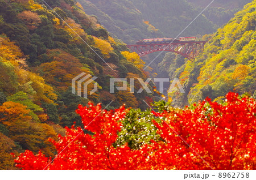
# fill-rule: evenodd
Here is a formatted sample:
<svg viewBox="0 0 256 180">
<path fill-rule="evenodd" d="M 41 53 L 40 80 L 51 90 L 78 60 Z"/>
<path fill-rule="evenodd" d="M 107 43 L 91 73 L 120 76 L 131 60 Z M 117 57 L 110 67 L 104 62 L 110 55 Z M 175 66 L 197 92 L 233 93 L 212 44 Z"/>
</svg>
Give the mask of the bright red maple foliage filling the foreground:
<svg viewBox="0 0 256 180">
<path fill-rule="evenodd" d="M 139 149 L 115 144 L 122 121 L 129 112 L 101 105 L 79 106 L 82 128 L 66 128 L 67 135 L 54 142 L 55 158 L 39 152 L 22 153 L 16 166 L 22 169 L 255 169 L 256 102 L 248 96 L 228 93 L 222 104 L 205 100 L 183 110 L 167 108 L 151 115 L 160 140 Z M 182 139 L 183 140 L 182 140 Z M 186 143 L 185 143 L 186 142 Z M 115 144 L 115 145 L 113 145 Z"/>
</svg>

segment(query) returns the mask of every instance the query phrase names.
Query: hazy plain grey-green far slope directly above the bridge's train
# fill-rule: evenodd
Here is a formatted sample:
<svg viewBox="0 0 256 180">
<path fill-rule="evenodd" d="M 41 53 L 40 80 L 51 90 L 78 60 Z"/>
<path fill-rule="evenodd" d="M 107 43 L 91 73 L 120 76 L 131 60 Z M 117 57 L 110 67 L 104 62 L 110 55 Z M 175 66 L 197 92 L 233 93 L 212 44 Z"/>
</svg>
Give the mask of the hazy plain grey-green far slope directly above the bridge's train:
<svg viewBox="0 0 256 180">
<path fill-rule="evenodd" d="M 142 12 L 143 18 L 149 20 L 156 28 L 164 33 L 164 36 L 176 37 L 197 15 L 200 14 L 187 1 L 162 0 L 162 1 L 136 1 L 131 0 Z M 203 15 L 189 25 L 182 36 L 196 36 L 213 33 L 214 25 Z"/>
</svg>

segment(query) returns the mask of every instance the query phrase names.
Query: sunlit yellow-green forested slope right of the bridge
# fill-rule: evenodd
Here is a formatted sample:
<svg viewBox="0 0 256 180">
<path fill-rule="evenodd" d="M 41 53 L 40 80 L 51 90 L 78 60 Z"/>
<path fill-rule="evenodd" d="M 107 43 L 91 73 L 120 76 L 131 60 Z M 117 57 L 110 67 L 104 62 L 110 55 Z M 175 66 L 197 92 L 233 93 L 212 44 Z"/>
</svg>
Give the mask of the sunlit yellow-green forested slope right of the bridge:
<svg viewBox="0 0 256 180">
<path fill-rule="evenodd" d="M 180 78 L 186 94 L 172 92 L 175 105 L 193 104 L 209 96 L 221 100 L 229 91 L 250 93 L 256 89 L 256 1 L 247 4 L 223 28 L 218 29 L 206 44 L 204 53 L 195 62 L 176 58 L 162 62 L 171 78 Z M 169 58 L 170 59 L 170 58 Z M 170 66 L 167 63 L 172 63 Z M 174 68 L 174 64 L 176 68 Z M 180 68 L 178 68 L 180 67 Z"/>
</svg>

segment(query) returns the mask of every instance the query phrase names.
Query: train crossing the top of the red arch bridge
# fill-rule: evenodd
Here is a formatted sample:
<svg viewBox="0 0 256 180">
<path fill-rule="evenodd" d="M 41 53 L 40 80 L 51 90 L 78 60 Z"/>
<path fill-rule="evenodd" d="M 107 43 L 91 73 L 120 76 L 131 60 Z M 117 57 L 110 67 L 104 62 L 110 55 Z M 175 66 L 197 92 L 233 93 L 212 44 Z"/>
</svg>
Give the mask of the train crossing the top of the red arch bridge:
<svg viewBox="0 0 256 180">
<path fill-rule="evenodd" d="M 180 37 L 180 38 L 144 38 L 139 40 L 136 44 L 162 44 L 162 43 L 179 43 L 179 42 L 195 42 L 196 37 Z"/>
</svg>

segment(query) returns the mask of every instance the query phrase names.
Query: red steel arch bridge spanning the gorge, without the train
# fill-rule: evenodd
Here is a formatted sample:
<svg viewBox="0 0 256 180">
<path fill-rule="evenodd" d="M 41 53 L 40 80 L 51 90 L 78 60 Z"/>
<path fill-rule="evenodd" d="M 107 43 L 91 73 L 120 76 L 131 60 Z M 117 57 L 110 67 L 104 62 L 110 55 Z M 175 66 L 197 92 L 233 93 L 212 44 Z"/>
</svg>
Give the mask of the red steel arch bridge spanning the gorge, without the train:
<svg viewBox="0 0 256 180">
<path fill-rule="evenodd" d="M 194 42 L 172 42 L 161 44 L 135 44 L 126 45 L 132 52 L 136 52 L 140 57 L 154 52 L 174 52 L 183 55 L 190 61 L 194 61 L 195 57 L 204 51 L 206 41 Z"/>
</svg>

